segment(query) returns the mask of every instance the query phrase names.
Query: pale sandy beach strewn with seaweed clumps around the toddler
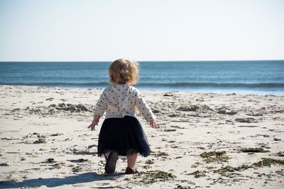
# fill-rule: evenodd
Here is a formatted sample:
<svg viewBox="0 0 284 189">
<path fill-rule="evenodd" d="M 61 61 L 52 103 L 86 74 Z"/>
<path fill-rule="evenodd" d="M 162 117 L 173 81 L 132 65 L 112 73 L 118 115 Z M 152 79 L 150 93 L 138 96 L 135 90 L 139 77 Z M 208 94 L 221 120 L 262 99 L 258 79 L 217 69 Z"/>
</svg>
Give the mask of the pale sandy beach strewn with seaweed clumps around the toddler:
<svg viewBox="0 0 284 189">
<path fill-rule="evenodd" d="M 0 86 L 0 188 L 284 188 L 284 97 L 141 91 L 151 156 L 104 174 L 87 126 L 102 89 Z"/>
</svg>

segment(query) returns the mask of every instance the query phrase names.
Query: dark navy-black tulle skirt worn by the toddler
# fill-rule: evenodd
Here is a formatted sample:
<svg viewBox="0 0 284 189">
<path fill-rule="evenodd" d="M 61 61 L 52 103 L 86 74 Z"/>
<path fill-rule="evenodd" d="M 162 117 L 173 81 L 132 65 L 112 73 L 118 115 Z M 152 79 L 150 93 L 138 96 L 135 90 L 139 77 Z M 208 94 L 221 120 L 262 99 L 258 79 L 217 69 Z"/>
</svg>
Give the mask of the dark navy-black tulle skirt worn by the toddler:
<svg viewBox="0 0 284 189">
<path fill-rule="evenodd" d="M 140 122 L 132 116 L 108 118 L 99 132 L 98 155 L 115 150 L 119 156 L 139 153 L 150 155 L 150 147 Z"/>
</svg>

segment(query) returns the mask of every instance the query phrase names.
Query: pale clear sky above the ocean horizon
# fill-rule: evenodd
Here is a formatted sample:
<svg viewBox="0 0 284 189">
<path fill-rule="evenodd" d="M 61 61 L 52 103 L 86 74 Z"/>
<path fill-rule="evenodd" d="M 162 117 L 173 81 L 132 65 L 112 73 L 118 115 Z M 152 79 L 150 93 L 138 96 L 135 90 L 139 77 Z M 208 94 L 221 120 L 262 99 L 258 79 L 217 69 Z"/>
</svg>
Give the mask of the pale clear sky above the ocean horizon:
<svg viewBox="0 0 284 189">
<path fill-rule="evenodd" d="M 0 61 L 284 59 L 283 0 L 0 0 Z"/>
</svg>

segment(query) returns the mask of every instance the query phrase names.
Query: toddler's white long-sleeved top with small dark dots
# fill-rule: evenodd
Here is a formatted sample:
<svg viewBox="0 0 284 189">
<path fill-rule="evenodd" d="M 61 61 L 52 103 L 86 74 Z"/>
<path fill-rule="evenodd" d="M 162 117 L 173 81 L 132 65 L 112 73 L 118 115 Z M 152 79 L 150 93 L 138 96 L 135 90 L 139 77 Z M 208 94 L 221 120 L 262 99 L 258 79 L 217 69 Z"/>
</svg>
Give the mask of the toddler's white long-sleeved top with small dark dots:
<svg viewBox="0 0 284 189">
<path fill-rule="evenodd" d="M 106 111 L 106 119 L 124 118 L 125 115 L 136 117 L 136 108 L 148 122 L 155 119 L 137 88 L 128 84 L 114 84 L 104 89 L 94 108 L 94 114 L 102 116 Z"/>
</svg>

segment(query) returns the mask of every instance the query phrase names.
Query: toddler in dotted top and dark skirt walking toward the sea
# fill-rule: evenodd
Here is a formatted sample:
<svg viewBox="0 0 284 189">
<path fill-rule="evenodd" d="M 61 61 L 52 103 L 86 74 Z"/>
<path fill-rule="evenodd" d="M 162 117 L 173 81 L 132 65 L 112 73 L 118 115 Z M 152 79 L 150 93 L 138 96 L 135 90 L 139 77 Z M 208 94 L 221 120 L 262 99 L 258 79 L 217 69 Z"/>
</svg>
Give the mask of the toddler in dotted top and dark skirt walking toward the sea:
<svg viewBox="0 0 284 189">
<path fill-rule="evenodd" d="M 128 59 L 117 59 L 109 67 L 111 85 L 104 89 L 96 108 L 94 120 L 88 128 L 94 130 L 99 118 L 107 112 L 99 132 L 98 155 L 104 154 L 104 170 L 112 174 L 119 156 L 126 156 L 126 174 L 138 173 L 137 154 L 148 156 L 150 148 L 141 123 L 136 118 L 136 108 L 151 127 L 156 126 L 155 115 L 143 100 L 137 88 L 131 86 L 138 80 L 138 64 Z"/>
</svg>

